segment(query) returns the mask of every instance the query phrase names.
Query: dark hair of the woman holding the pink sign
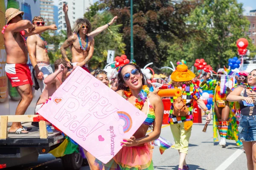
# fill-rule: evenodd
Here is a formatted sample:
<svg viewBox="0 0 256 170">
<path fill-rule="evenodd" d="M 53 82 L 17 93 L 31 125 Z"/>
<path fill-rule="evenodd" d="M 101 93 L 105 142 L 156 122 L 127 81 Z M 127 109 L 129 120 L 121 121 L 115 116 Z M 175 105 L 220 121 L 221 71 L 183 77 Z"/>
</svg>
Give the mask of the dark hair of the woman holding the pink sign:
<svg viewBox="0 0 256 170">
<path fill-rule="evenodd" d="M 142 75 L 142 85 L 148 85 L 148 79 L 147 77 L 145 76 L 145 74 L 143 74 L 143 72 L 141 71 L 140 67 L 137 66 L 137 65 L 134 65 L 132 63 L 128 63 L 126 65 L 132 65 L 134 66 L 139 72 L 140 72 L 140 75 Z M 117 90 L 116 91 L 119 91 L 119 90 L 127 90 L 127 87 L 125 87 L 125 80 L 124 80 L 124 77 L 122 76 L 121 74 L 121 71 L 122 69 L 126 66 L 122 66 L 121 70 L 119 71 L 119 73 L 117 74 L 117 80 L 118 80 L 118 87 L 117 87 Z M 148 87 L 150 87 L 151 85 L 148 85 Z"/>
</svg>

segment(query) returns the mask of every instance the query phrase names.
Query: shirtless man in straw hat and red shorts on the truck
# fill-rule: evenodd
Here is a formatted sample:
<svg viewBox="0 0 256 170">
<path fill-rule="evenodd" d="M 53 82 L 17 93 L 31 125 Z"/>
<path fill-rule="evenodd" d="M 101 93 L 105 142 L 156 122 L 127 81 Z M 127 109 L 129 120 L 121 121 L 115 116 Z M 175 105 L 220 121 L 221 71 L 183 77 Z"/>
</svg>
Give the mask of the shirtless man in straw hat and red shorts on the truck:
<svg viewBox="0 0 256 170">
<path fill-rule="evenodd" d="M 15 8 L 8 8 L 5 13 L 7 25 L 3 28 L 4 45 L 6 48 L 6 75 L 12 87 L 17 89 L 21 96 L 15 115 L 23 115 L 32 101 L 32 79 L 31 73 L 26 62 L 27 49 L 25 37 L 40 34 L 48 29 L 56 30 L 55 25 L 38 27 L 29 20 L 22 20 L 23 11 Z M 28 133 L 27 127 L 23 127 L 20 122 L 13 122 L 9 133 Z"/>
</svg>

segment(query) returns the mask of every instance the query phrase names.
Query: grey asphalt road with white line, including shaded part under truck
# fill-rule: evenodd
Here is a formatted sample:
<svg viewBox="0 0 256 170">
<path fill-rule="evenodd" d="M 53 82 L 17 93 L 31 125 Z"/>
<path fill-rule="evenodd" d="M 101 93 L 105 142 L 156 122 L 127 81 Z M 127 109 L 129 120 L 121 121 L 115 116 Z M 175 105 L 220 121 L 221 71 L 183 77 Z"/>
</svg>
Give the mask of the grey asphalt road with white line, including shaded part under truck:
<svg viewBox="0 0 256 170">
<path fill-rule="evenodd" d="M 204 120 L 203 120 L 204 122 Z M 194 124 L 192 135 L 189 141 L 189 153 L 186 162 L 190 170 L 247 170 L 245 153 L 241 147 L 236 146 L 235 141 L 227 140 L 227 147 L 222 148 L 218 143 L 213 142 L 212 125 L 208 125 L 207 132 L 202 132 L 204 123 Z M 163 125 L 161 136 L 173 142 L 169 126 Z M 153 153 L 155 170 L 177 170 L 178 152 L 174 149 L 167 149 L 163 155 L 158 147 Z M 15 167 L 15 170 L 64 170 L 61 159 L 55 159 L 51 154 L 40 155 L 38 162 L 33 164 Z M 81 170 L 90 170 L 84 166 Z"/>
</svg>

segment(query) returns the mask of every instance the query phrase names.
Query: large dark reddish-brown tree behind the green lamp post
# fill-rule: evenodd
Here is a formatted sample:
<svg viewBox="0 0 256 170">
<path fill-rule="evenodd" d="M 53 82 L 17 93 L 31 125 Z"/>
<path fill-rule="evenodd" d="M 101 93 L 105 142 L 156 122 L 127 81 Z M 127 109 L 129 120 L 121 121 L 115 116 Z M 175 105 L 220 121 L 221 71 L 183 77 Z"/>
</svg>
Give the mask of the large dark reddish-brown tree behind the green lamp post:
<svg viewBox="0 0 256 170">
<path fill-rule="evenodd" d="M 141 66 L 154 62 L 154 69 L 168 64 L 169 46 L 183 42 L 194 31 L 187 27 L 186 17 L 198 5 L 197 1 L 183 0 L 134 0 L 134 59 Z M 100 0 L 91 9 L 93 16 L 97 10 L 110 11 L 118 15 L 117 23 L 122 24 L 120 33 L 126 44 L 125 54 L 130 55 L 130 0 Z"/>
</svg>

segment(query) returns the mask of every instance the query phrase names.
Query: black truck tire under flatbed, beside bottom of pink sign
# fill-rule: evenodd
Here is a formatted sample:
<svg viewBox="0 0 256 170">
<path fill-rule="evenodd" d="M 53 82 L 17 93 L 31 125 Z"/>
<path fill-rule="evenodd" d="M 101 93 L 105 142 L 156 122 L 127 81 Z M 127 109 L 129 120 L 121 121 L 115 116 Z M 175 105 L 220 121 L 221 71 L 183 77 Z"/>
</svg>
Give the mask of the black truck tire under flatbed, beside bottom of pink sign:
<svg viewBox="0 0 256 170">
<path fill-rule="evenodd" d="M 62 164 L 67 170 L 79 170 L 83 163 L 80 153 L 72 153 L 61 157 Z"/>
</svg>

